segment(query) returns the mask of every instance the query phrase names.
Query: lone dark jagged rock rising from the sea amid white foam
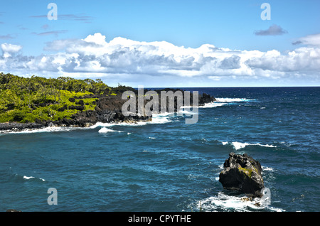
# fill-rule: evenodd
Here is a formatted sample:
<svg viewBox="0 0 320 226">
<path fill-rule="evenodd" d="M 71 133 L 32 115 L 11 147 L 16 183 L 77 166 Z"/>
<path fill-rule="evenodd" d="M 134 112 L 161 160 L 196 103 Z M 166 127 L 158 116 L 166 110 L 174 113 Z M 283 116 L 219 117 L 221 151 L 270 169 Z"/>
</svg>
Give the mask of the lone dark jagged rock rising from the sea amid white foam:
<svg viewBox="0 0 320 226">
<path fill-rule="evenodd" d="M 265 185 L 259 161 L 247 154 L 240 155 L 231 152 L 223 167 L 219 175 L 223 188 L 239 190 L 248 197 L 262 197 L 261 190 L 265 188 Z"/>
</svg>

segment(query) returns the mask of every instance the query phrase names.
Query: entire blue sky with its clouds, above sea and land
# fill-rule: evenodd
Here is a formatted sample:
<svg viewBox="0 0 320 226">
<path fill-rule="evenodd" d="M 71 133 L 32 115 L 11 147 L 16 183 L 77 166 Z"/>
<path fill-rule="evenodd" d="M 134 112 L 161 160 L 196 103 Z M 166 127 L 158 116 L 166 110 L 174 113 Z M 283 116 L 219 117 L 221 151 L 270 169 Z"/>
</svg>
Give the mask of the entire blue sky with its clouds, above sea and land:
<svg viewBox="0 0 320 226">
<path fill-rule="evenodd" d="M 320 85 L 319 0 L 12 0 L 0 6 L 4 73 L 132 87 Z"/>
</svg>

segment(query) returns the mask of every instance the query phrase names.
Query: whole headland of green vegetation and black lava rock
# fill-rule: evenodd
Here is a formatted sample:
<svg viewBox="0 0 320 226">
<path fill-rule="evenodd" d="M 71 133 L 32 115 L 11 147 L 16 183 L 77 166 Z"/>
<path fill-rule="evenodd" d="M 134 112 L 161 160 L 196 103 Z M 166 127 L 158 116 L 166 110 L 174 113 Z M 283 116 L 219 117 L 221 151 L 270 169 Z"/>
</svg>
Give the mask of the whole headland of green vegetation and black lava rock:
<svg viewBox="0 0 320 226">
<path fill-rule="evenodd" d="M 0 73 L 0 131 L 20 131 L 43 127 L 90 127 L 102 123 L 137 123 L 151 121 L 146 114 L 124 115 L 122 106 L 127 99 L 126 91 L 141 95 L 137 89 L 118 85 L 110 87 L 102 80 L 76 80 L 71 77 L 19 77 Z M 144 90 L 144 95 L 149 90 Z M 154 90 L 176 93 L 178 89 Z M 183 92 L 181 92 L 183 93 Z M 144 98 L 144 104 L 148 103 Z M 135 100 L 138 103 L 138 99 Z M 206 93 L 198 95 L 198 106 L 214 102 L 215 98 Z M 190 94 L 191 105 L 193 95 Z M 169 109 L 166 99 L 166 110 Z M 161 105 L 159 103 L 159 110 Z M 178 112 L 174 98 L 174 112 Z M 137 109 L 138 111 L 138 109 Z"/>
</svg>

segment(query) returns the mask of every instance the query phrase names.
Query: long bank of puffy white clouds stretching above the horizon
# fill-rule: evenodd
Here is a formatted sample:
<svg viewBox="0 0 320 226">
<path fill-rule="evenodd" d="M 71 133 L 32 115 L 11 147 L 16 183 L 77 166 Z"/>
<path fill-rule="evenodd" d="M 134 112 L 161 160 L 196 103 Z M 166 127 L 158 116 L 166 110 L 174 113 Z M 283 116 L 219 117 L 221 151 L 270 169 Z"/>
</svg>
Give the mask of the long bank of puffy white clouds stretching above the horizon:
<svg viewBox="0 0 320 226">
<path fill-rule="evenodd" d="M 307 36 L 308 37 L 308 36 Z M 20 45 L 4 43 L 0 70 L 23 74 L 48 74 L 71 77 L 198 77 L 220 81 L 230 78 L 255 79 L 320 77 L 320 48 L 318 36 L 309 40 L 314 46 L 297 48 L 287 53 L 278 50 L 230 50 L 204 44 L 199 48 L 185 48 L 166 41 L 140 42 L 95 33 L 83 39 L 56 40 L 46 43 L 46 55 L 14 55 Z M 311 45 L 311 44 L 310 44 Z M 131 80 L 132 78 L 130 78 Z M 124 81 L 125 82 L 125 81 Z"/>
</svg>

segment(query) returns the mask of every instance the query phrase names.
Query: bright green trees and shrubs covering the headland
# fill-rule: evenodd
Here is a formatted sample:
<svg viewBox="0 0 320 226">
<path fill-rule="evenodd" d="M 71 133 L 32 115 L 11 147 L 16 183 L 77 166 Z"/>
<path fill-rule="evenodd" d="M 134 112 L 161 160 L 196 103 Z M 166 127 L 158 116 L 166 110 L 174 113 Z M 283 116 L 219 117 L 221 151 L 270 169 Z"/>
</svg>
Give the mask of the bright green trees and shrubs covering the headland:
<svg viewBox="0 0 320 226">
<path fill-rule="evenodd" d="M 79 111 L 94 110 L 95 95 L 117 95 L 127 88 L 112 88 L 100 79 L 27 78 L 1 72 L 0 123 L 70 119 Z"/>
</svg>

